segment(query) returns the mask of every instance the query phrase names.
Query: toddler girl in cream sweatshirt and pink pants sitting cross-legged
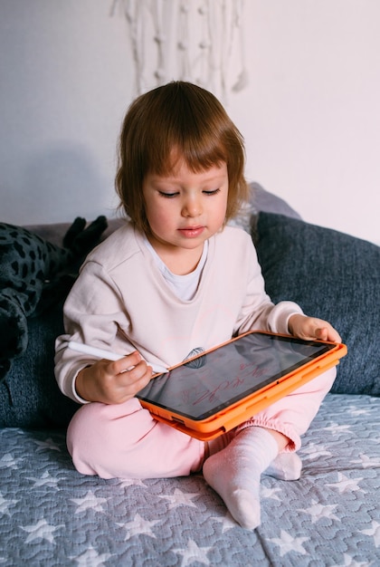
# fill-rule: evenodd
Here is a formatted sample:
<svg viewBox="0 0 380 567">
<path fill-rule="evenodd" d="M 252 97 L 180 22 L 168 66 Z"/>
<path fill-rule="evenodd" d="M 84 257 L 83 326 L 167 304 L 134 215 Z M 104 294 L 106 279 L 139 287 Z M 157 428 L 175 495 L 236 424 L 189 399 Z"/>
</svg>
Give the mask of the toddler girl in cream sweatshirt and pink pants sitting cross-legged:
<svg viewBox="0 0 380 567">
<path fill-rule="evenodd" d="M 153 418 L 135 397 L 146 360 L 174 366 L 242 332 L 340 341 L 295 303 L 271 303 L 252 238 L 226 226 L 248 199 L 242 136 L 214 95 L 171 82 L 130 106 L 116 187 L 125 225 L 93 250 L 64 306 L 56 345 L 62 392 L 81 403 L 67 441 L 82 474 L 184 476 L 203 470 L 243 527 L 260 524 L 260 477 L 296 479 L 295 451 L 335 370 L 204 443 Z M 67 341 L 117 351 L 96 360 Z"/>
</svg>

